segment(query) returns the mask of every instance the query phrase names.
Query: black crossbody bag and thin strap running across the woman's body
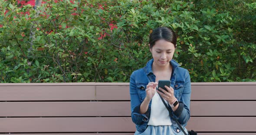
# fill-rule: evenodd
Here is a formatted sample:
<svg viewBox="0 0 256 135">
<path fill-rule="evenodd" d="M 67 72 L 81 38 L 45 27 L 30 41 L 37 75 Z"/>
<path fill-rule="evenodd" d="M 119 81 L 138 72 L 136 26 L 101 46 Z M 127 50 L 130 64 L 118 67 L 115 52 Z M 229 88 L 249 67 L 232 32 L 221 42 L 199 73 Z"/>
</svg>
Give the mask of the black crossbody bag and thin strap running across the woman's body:
<svg viewBox="0 0 256 135">
<path fill-rule="evenodd" d="M 145 67 L 143 67 L 143 70 L 144 70 L 145 73 L 147 74 Z M 148 75 L 147 75 L 147 76 L 148 76 Z M 148 79 L 149 79 L 151 82 L 153 82 L 153 80 L 152 80 L 152 78 L 151 78 L 150 76 L 148 76 Z M 164 102 L 163 97 L 162 97 L 160 94 L 159 94 L 159 96 L 160 96 L 161 100 L 163 101 L 164 106 L 165 106 L 166 109 L 168 110 L 170 117 L 172 118 L 173 116 L 172 116 L 172 113 L 171 113 L 171 112 L 172 112 L 171 108 L 169 108 L 169 107 L 167 106 L 167 104 Z M 182 130 L 182 132 L 184 133 L 184 135 L 187 135 L 187 133 L 184 131 L 184 129 L 182 128 L 182 126 L 181 126 L 181 124 L 178 122 L 178 120 L 177 120 L 177 119 L 174 119 L 174 120 L 175 120 L 175 122 L 178 124 L 178 126 L 180 127 L 180 129 Z M 188 135 L 197 135 L 197 132 L 194 132 L 194 130 L 187 131 L 187 132 L 188 132 Z"/>
</svg>

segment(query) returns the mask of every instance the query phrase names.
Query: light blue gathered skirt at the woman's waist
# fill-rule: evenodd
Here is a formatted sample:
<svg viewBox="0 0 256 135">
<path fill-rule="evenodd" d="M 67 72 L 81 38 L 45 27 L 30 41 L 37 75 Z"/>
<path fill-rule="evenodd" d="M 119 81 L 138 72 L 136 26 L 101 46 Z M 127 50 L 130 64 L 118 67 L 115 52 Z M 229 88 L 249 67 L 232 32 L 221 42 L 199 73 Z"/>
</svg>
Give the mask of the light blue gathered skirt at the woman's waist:
<svg viewBox="0 0 256 135">
<path fill-rule="evenodd" d="M 148 125 L 147 129 L 143 133 L 136 131 L 134 135 L 184 135 L 184 134 L 182 131 L 179 132 L 178 134 L 174 132 L 173 126 L 171 125 L 158 125 L 158 126 Z"/>
</svg>

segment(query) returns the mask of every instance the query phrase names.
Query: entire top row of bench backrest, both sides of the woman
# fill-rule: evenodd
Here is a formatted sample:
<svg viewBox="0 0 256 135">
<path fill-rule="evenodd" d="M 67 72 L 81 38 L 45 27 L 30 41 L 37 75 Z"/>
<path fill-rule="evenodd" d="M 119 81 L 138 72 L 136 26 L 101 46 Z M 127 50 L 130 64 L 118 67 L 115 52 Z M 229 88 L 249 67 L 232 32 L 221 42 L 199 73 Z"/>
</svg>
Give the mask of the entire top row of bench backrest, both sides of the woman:
<svg viewBox="0 0 256 135">
<path fill-rule="evenodd" d="M 23 100 L 130 100 L 129 83 L 115 83 L 117 85 L 92 86 L 91 83 L 84 85 L 43 85 L 35 84 L 26 86 L 0 86 L 0 101 L 23 101 Z M 96 83 L 97 84 L 97 83 Z M 255 100 L 255 85 L 218 85 L 218 83 L 198 85 L 192 83 L 191 100 Z M 199 83 L 201 84 L 201 83 Z M 39 84 L 38 84 L 39 85 Z M 246 89 L 244 88 L 246 87 Z"/>
</svg>

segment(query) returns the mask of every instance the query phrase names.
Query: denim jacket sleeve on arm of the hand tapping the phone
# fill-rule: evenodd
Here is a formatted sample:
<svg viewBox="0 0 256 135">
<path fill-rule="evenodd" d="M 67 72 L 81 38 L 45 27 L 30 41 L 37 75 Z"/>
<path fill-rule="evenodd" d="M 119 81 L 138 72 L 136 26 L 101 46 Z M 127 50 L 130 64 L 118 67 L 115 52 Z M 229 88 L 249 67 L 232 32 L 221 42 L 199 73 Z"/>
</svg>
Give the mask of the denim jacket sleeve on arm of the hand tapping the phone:
<svg viewBox="0 0 256 135">
<path fill-rule="evenodd" d="M 130 78 L 130 97 L 131 97 L 131 119 L 136 125 L 142 125 L 148 122 L 150 116 L 150 107 L 145 114 L 140 113 L 141 101 L 136 90 L 135 76 L 131 74 Z"/>
</svg>

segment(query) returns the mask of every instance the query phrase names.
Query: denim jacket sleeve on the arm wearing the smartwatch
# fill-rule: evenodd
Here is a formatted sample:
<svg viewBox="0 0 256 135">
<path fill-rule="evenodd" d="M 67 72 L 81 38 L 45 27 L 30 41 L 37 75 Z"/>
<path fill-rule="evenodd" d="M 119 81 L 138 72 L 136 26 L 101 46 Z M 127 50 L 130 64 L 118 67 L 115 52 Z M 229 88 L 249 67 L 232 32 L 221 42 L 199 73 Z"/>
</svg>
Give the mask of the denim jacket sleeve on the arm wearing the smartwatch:
<svg viewBox="0 0 256 135">
<path fill-rule="evenodd" d="M 178 122 L 183 125 L 184 124 L 186 125 L 188 120 L 190 119 L 190 96 L 191 96 L 190 75 L 189 75 L 189 72 L 186 70 L 184 89 L 181 95 L 181 100 L 179 101 L 179 107 L 175 112 L 172 112 L 173 118 L 177 119 Z"/>
</svg>

